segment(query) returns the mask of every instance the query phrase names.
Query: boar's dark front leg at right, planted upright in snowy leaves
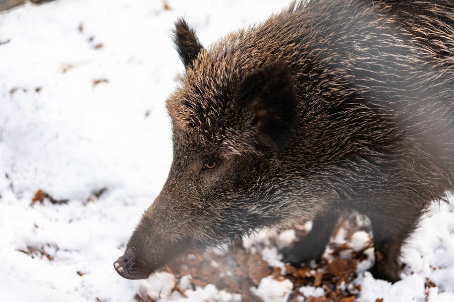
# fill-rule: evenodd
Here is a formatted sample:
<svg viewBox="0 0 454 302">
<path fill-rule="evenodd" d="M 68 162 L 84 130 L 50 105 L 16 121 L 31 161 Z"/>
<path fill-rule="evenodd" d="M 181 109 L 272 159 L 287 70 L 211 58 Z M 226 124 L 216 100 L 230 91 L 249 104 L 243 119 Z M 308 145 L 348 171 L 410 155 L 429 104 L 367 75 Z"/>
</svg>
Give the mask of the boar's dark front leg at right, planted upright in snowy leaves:
<svg viewBox="0 0 454 302">
<path fill-rule="evenodd" d="M 369 213 L 375 248 L 375 265 L 370 271 L 374 278 L 390 282 L 401 279 L 398 264 L 401 247 L 415 229 L 422 212 L 423 210 L 413 210 L 409 206 Z"/>
</svg>

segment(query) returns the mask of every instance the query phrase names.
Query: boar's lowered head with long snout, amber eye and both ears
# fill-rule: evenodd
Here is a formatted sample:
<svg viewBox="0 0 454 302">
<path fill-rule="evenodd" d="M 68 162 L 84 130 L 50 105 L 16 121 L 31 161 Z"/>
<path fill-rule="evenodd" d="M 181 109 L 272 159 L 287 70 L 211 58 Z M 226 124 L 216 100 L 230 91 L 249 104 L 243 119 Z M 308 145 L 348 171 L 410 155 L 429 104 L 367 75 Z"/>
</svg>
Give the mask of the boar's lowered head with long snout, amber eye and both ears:
<svg viewBox="0 0 454 302">
<path fill-rule="evenodd" d="M 308 211 L 292 202 L 290 187 L 299 173 L 290 69 L 269 50 L 254 56 L 250 43 L 239 44 L 241 31 L 209 49 L 184 20 L 174 33 L 186 74 L 166 102 L 173 163 L 114 264 L 129 279 L 147 278 L 188 249 L 232 242 Z"/>
</svg>

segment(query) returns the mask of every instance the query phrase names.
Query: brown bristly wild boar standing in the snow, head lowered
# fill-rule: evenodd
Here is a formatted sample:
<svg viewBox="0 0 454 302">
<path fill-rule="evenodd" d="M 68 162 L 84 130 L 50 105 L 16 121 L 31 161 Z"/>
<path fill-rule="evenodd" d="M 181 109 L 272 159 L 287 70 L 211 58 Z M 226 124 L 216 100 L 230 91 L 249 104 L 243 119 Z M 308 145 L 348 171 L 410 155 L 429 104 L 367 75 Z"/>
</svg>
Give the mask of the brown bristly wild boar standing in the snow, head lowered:
<svg viewBox="0 0 454 302">
<path fill-rule="evenodd" d="M 312 0 L 204 48 L 167 100 L 174 160 L 115 268 L 147 278 L 191 248 L 301 217 L 285 260 L 320 258 L 339 215 L 370 218 L 377 278 L 454 184 L 454 4 Z"/>
</svg>

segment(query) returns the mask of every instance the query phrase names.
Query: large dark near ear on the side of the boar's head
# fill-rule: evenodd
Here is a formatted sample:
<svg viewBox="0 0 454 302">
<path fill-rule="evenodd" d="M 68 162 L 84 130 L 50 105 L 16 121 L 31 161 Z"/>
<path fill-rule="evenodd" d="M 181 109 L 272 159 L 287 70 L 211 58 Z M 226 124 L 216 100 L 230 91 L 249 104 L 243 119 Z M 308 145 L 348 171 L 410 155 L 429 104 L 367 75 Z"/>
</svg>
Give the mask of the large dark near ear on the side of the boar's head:
<svg viewBox="0 0 454 302">
<path fill-rule="evenodd" d="M 270 64 L 250 72 L 240 84 L 239 99 L 251 110 L 259 143 L 263 147 L 285 147 L 298 117 L 294 83 L 287 67 Z"/>
</svg>

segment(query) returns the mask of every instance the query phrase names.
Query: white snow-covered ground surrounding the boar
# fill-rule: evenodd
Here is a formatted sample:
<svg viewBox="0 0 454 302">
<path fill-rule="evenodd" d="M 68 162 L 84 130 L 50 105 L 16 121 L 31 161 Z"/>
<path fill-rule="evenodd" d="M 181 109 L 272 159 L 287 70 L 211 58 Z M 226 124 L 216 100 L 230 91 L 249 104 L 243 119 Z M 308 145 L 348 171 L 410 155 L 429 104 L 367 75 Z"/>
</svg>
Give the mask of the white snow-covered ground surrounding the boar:
<svg viewBox="0 0 454 302">
<path fill-rule="evenodd" d="M 0 13 L 0 301 L 130 301 L 141 290 L 160 301 L 241 299 L 211 284 L 193 289 L 183 278 L 185 298 L 172 274 L 131 281 L 112 262 L 171 163 L 164 100 L 184 71 L 173 22 L 185 16 L 207 45 L 288 3 L 57 0 Z M 39 189 L 68 201 L 31 205 Z M 283 267 L 275 246 L 257 250 L 266 236 L 246 248 Z M 334 240 L 342 243 L 343 232 Z M 360 231 L 349 245 L 359 250 L 368 240 Z M 404 247 L 402 281 L 373 279 L 368 253 L 350 284 L 361 285 L 358 301 L 454 301 L 452 207 L 434 205 Z M 252 292 L 285 301 L 292 287 L 268 276 Z"/>
</svg>

